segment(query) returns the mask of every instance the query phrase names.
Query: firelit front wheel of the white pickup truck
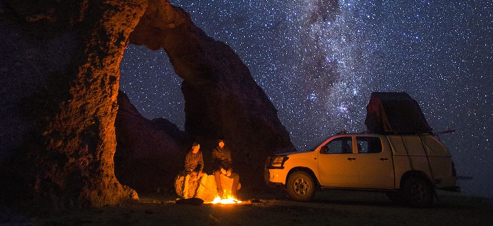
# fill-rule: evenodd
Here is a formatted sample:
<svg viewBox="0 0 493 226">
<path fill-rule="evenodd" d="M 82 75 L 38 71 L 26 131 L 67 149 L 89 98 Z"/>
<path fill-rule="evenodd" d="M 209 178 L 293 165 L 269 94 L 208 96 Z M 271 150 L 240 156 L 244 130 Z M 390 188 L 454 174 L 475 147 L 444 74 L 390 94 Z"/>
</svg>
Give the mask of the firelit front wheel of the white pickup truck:
<svg viewBox="0 0 493 226">
<path fill-rule="evenodd" d="M 304 171 L 296 171 L 288 178 L 286 192 L 295 201 L 310 201 L 315 195 L 315 183 L 312 176 Z"/>
</svg>

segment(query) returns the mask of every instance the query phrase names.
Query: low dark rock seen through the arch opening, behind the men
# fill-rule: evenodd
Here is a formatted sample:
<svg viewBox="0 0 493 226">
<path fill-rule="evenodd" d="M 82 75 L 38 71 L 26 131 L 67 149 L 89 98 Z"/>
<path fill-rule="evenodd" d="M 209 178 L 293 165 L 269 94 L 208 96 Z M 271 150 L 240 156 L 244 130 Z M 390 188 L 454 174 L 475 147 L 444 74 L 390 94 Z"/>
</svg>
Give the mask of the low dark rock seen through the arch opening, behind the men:
<svg viewBox="0 0 493 226">
<path fill-rule="evenodd" d="M 121 91 L 118 105 L 115 121 L 118 180 L 138 192 L 169 190 L 176 174 L 183 170 L 187 150 L 185 133 L 166 119 L 151 121 L 142 117 Z"/>
</svg>

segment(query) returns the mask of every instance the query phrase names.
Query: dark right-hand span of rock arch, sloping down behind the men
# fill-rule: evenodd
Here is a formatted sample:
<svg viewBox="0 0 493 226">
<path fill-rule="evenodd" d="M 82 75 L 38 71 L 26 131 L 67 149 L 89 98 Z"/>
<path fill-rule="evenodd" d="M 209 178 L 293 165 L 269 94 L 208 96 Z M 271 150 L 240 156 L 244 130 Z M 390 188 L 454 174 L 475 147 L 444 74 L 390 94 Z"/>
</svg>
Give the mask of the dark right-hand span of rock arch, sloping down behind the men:
<svg viewBox="0 0 493 226">
<path fill-rule="evenodd" d="M 184 80 L 185 131 L 205 142 L 225 139 L 247 185 L 263 183 L 267 155 L 293 149 L 275 107 L 247 66 L 229 46 L 197 28 L 181 8 L 149 1 L 129 42 L 166 51 Z"/>
</svg>

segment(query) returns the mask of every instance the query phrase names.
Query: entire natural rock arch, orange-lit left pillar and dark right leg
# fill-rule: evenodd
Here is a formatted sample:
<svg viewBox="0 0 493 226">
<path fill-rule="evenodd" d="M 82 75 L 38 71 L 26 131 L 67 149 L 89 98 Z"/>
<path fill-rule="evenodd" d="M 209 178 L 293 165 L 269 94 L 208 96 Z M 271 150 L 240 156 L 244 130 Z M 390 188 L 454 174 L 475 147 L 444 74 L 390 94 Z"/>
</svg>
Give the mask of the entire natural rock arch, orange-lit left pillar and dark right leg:
<svg viewBox="0 0 493 226">
<path fill-rule="evenodd" d="M 10 201 L 65 209 L 137 199 L 113 163 L 128 42 L 164 48 L 184 79 L 185 131 L 210 144 L 225 139 L 245 187 L 262 183 L 267 155 L 292 148 L 238 56 L 168 1 L 6 0 L 0 18 L 0 186 Z"/>
</svg>

